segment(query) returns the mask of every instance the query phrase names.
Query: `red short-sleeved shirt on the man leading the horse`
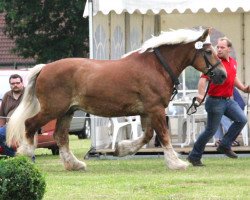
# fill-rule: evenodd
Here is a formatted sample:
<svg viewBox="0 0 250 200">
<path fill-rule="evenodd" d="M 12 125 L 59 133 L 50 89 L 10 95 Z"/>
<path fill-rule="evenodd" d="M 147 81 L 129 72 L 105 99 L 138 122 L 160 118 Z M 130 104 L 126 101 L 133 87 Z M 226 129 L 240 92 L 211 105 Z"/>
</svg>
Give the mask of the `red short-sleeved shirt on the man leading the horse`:
<svg viewBox="0 0 250 200">
<path fill-rule="evenodd" d="M 237 62 L 231 57 L 229 57 L 229 62 L 225 59 L 221 59 L 221 62 L 223 63 L 227 71 L 227 79 L 222 85 L 215 85 L 211 82 L 208 90 L 208 95 L 217 97 L 231 97 L 233 96 L 234 80 L 237 71 Z M 204 74 L 201 75 L 201 77 L 209 79 L 209 77 Z"/>
</svg>

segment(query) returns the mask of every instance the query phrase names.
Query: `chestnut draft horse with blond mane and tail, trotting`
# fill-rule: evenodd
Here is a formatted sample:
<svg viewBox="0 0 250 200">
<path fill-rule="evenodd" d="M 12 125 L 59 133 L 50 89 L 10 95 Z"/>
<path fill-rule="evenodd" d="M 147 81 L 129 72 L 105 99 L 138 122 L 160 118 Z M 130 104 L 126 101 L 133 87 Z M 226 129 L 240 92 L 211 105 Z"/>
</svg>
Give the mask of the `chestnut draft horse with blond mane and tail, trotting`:
<svg viewBox="0 0 250 200">
<path fill-rule="evenodd" d="M 57 119 L 54 138 L 65 168 L 86 169 L 69 149 L 68 130 L 74 111 L 82 109 L 104 117 L 140 115 L 143 136 L 118 143 L 116 154 L 135 154 L 155 130 L 166 165 L 186 169 L 187 162 L 178 158 L 171 145 L 165 108 L 173 92 L 172 79 L 189 65 L 208 74 L 214 83 L 226 79 L 216 52 L 203 45 L 208 34 L 208 29 L 169 31 L 147 40 L 119 60 L 67 58 L 35 66 L 23 100 L 8 123 L 8 144 L 16 142 L 18 153 L 34 155 L 36 131 Z M 171 72 L 164 69 L 166 65 Z"/>
</svg>

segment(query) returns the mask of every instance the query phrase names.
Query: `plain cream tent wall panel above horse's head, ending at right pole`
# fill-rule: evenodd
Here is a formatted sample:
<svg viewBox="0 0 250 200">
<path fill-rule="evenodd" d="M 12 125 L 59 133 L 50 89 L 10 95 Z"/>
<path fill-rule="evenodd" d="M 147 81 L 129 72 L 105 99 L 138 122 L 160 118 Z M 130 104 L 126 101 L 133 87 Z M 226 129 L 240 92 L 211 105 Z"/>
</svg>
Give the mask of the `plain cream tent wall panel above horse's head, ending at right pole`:
<svg viewBox="0 0 250 200">
<path fill-rule="evenodd" d="M 238 62 L 238 77 L 245 81 L 243 69 L 243 19 L 241 13 L 198 13 L 198 14 L 168 14 L 161 15 L 161 30 L 212 27 L 228 37 L 234 47 Z"/>
</svg>

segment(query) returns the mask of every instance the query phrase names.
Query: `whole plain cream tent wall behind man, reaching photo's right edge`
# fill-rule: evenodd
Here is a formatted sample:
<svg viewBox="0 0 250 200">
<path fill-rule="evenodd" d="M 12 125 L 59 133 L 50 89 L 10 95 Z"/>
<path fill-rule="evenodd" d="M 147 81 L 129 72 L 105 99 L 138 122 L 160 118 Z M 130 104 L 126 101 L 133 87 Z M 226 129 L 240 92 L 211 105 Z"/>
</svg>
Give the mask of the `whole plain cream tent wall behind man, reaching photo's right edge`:
<svg viewBox="0 0 250 200">
<path fill-rule="evenodd" d="M 233 53 L 238 62 L 238 78 L 244 84 L 250 84 L 250 13 L 165 14 L 161 15 L 159 23 L 163 31 L 169 28 L 205 26 L 213 27 L 224 34 L 233 43 Z M 242 95 L 249 101 L 247 94 Z"/>
</svg>

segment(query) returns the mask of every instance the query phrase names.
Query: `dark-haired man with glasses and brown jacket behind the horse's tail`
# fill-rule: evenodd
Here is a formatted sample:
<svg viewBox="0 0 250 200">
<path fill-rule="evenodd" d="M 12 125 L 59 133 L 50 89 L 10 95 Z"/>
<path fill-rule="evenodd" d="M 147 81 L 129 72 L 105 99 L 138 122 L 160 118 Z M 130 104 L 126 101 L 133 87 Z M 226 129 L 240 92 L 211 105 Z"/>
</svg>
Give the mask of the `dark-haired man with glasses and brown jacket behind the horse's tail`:
<svg viewBox="0 0 250 200">
<path fill-rule="evenodd" d="M 0 146 L 2 146 L 3 154 L 7 156 L 15 156 L 15 150 L 6 145 L 6 124 L 8 118 L 21 102 L 24 86 L 23 79 L 18 74 L 13 74 L 9 77 L 11 90 L 6 92 L 0 107 Z"/>
</svg>

